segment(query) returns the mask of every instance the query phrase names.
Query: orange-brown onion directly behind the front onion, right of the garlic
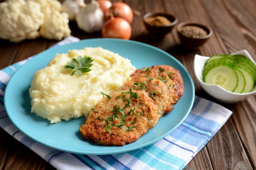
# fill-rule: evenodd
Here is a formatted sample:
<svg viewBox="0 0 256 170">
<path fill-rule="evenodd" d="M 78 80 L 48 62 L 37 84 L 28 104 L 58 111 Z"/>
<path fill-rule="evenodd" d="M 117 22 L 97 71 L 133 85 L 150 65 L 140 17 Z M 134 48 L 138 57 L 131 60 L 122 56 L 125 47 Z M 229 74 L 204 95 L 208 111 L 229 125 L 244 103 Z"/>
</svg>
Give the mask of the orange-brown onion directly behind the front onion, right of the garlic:
<svg viewBox="0 0 256 170">
<path fill-rule="evenodd" d="M 131 24 L 133 19 L 132 8 L 123 2 L 115 2 L 105 12 L 106 20 L 111 19 L 112 17 L 124 18 L 126 21 L 128 21 Z"/>
</svg>

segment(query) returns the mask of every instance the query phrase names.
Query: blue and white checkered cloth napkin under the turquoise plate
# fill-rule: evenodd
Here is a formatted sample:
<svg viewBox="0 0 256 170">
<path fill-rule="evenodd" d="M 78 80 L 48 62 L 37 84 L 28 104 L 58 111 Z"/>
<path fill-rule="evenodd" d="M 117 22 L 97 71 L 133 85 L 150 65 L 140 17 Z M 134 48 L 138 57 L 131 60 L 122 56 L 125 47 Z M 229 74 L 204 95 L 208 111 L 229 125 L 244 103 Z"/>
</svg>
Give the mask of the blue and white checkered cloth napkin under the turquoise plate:
<svg viewBox="0 0 256 170">
<path fill-rule="evenodd" d="M 55 46 L 78 40 L 68 37 Z M 223 106 L 196 96 L 194 106 L 185 121 L 152 145 L 113 155 L 63 152 L 25 136 L 12 124 L 5 112 L 5 87 L 15 71 L 29 59 L 31 58 L 0 70 L 0 126 L 57 169 L 183 169 L 232 114 Z"/>
</svg>

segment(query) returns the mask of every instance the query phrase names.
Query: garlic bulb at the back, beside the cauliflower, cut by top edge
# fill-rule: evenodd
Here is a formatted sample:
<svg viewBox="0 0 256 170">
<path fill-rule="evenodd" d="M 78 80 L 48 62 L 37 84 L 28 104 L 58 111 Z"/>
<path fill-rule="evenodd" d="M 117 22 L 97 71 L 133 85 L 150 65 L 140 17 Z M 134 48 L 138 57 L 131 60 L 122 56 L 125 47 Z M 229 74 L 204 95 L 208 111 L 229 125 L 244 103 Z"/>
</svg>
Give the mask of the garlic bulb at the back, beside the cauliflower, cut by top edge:
<svg viewBox="0 0 256 170">
<path fill-rule="evenodd" d="M 70 21 L 74 21 L 80 8 L 84 6 L 84 0 L 65 0 L 62 3 L 62 11 L 68 13 L 68 19 Z"/>
</svg>

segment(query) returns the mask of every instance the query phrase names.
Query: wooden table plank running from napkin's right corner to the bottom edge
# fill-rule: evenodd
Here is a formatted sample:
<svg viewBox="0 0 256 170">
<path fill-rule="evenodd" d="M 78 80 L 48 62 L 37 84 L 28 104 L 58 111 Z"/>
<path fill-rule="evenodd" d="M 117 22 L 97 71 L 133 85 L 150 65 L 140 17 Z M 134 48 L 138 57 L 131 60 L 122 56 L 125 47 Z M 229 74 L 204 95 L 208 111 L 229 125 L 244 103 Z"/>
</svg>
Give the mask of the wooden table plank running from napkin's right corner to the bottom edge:
<svg viewBox="0 0 256 170">
<path fill-rule="evenodd" d="M 252 169 L 231 118 L 206 146 L 214 169 Z"/>
</svg>

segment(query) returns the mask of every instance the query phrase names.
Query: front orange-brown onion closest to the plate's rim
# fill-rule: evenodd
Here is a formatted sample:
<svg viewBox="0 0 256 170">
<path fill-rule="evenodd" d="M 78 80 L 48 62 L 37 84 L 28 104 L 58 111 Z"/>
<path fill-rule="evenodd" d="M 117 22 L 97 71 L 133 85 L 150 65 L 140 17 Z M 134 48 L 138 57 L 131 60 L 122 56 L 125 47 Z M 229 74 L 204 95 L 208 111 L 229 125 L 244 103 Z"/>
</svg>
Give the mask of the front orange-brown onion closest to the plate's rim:
<svg viewBox="0 0 256 170">
<path fill-rule="evenodd" d="M 132 34 L 131 25 L 123 18 L 112 18 L 102 27 L 103 38 L 130 39 Z"/>
</svg>

